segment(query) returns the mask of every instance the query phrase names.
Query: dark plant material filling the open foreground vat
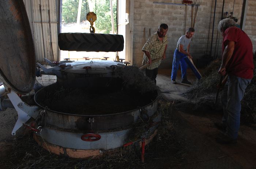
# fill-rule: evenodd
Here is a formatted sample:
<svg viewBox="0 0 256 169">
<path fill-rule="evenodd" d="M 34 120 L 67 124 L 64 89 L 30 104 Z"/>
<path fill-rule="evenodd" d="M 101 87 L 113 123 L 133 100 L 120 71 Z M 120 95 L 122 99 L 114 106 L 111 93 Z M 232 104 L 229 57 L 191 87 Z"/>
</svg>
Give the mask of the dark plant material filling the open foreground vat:
<svg viewBox="0 0 256 169">
<path fill-rule="evenodd" d="M 102 79 L 100 80 L 102 82 Z M 70 87 L 57 83 L 43 92 L 44 99 L 40 101 L 40 104 L 62 113 L 103 115 L 143 107 L 156 97 L 156 93 L 150 92 L 142 95 L 132 88 L 123 87 L 123 81 L 120 78 L 109 79 L 108 83 L 102 86 L 91 85 L 87 82 L 87 79 L 83 82 L 78 81 L 77 83 L 83 83 L 82 86 L 78 84 L 78 88 L 74 83 Z"/>
</svg>

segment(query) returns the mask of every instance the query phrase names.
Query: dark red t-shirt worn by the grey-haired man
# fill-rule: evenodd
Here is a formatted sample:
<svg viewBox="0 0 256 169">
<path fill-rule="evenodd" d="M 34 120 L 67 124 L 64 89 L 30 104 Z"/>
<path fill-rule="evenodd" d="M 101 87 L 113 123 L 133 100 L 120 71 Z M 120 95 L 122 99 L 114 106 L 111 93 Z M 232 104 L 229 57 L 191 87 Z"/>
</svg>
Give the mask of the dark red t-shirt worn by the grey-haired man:
<svg viewBox="0 0 256 169">
<path fill-rule="evenodd" d="M 233 55 L 226 65 L 227 74 L 252 79 L 254 65 L 251 39 L 240 28 L 227 28 L 223 33 L 222 53 L 226 40 L 235 42 Z"/>
</svg>

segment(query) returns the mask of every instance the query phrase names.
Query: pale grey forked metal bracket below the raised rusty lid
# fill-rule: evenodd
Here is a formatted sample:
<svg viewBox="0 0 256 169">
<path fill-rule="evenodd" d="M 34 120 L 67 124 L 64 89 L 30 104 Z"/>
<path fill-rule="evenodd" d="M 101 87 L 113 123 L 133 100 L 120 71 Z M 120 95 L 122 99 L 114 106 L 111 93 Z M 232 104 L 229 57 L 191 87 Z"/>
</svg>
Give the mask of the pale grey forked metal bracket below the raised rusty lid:
<svg viewBox="0 0 256 169">
<path fill-rule="evenodd" d="M 27 106 L 26 103 L 22 102 L 20 97 L 13 90 L 11 90 L 10 93 L 7 93 L 7 95 L 18 113 L 18 120 L 16 121 L 16 124 L 12 130 L 12 135 L 15 135 L 16 131 L 23 125 L 23 123 L 26 123 L 31 116 L 34 117 L 35 111 L 38 110 L 38 107 L 31 106 L 33 108 L 30 110 L 30 106 Z M 31 116 L 25 111 L 29 112 Z"/>
</svg>

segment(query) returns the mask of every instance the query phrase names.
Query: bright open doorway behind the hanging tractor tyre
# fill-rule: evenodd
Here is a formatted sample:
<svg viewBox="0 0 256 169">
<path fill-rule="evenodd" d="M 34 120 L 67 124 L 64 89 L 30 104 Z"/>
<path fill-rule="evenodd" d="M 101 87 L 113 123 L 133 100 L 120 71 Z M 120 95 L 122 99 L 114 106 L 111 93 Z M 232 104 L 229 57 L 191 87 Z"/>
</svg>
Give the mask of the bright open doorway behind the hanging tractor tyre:
<svg viewBox="0 0 256 169">
<path fill-rule="evenodd" d="M 118 0 L 119 1 L 119 0 Z M 94 12 L 97 19 L 93 23 L 97 34 L 119 34 L 117 27 L 117 0 L 62 0 L 61 33 L 90 33 L 88 12 Z M 125 35 L 125 34 L 124 34 Z M 60 60 L 104 59 L 116 60 L 117 52 L 76 52 L 61 51 Z M 119 60 L 118 60 L 119 61 Z"/>
</svg>

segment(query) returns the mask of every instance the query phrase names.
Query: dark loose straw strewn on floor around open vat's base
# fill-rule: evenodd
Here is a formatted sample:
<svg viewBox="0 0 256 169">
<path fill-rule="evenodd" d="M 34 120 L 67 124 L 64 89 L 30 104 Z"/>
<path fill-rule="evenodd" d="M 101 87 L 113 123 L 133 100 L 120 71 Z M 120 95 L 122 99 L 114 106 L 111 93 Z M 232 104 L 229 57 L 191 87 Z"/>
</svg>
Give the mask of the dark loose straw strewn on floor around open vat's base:
<svg viewBox="0 0 256 169">
<path fill-rule="evenodd" d="M 4 145 L 0 154 L 0 168 L 10 169 L 156 169 L 165 163 L 182 165 L 191 147 L 184 146 L 184 140 L 177 138 L 172 116 L 173 102 L 160 97 L 158 112 L 162 114 L 158 134 L 145 147 L 145 163 L 140 157 L 139 142 L 120 148 L 113 156 L 99 159 L 74 159 L 57 156 L 39 146 L 32 136 L 24 135 Z M 185 159 L 184 159 L 185 158 Z"/>
</svg>

